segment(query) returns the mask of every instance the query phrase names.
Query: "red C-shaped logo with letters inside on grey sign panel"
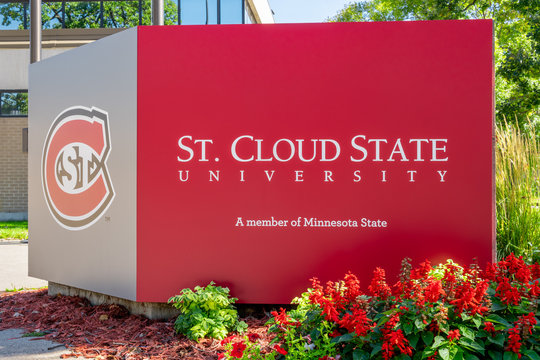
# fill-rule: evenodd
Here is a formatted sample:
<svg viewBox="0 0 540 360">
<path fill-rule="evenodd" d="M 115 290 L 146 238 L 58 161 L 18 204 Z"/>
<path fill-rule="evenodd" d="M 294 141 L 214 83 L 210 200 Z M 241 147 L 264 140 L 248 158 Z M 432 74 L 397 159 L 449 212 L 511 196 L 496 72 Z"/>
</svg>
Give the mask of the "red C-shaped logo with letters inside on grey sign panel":
<svg viewBox="0 0 540 360">
<path fill-rule="evenodd" d="M 106 111 L 75 106 L 54 120 L 43 146 L 41 177 L 47 206 L 62 227 L 85 229 L 111 204 L 110 151 Z"/>
</svg>

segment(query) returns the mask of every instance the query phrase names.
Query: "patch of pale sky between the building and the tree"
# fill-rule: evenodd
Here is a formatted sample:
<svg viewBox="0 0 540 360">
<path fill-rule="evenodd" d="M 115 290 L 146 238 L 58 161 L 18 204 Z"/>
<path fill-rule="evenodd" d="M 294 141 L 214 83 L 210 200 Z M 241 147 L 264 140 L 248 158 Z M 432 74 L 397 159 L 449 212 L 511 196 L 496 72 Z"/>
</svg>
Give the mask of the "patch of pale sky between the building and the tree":
<svg viewBox="0 0 540 360">
<path fill-rule="evenodd" d="M 268 0 L 276 23 L 323 22 L 353 0 Z"/>
</svg>

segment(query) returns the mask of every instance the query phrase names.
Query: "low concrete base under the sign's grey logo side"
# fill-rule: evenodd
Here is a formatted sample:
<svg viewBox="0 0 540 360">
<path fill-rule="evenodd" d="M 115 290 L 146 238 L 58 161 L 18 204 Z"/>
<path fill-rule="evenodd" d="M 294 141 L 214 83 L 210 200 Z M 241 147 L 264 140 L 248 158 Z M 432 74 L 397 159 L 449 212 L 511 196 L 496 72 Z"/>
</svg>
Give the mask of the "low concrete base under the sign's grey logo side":
<svg viewBox="0 0 540 360">
<path fill-rule="evenodd" d="M 152 320 L 166 320 L 176 317 L 180 311 L 169 304 L 136 302 L 115 296 L 100 294 L 94 291 L 78 289 L 49 281 L 49 295 L 79 296 L 90 301 L 92 305 L 117 304 L 125 307 L 131 314 L 144 315 Z"/>
</svg>

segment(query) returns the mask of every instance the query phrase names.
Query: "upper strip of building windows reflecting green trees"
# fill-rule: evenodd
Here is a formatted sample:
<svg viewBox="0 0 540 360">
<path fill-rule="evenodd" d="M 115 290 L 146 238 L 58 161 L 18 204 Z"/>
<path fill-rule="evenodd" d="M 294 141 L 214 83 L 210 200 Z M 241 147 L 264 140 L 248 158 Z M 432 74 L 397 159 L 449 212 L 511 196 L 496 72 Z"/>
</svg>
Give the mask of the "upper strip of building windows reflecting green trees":
<svg viewBox="0 0 540 360">
<path fill-rule="evenodd" d="M 126 28 L 139 25 L 138 1 L 105 1 L 103 2 L 103 26 L 106 28 Z M 7 3 L 0 5 L 2 25 L 8 26 L 18 22 L 19 28 L 23 23 L 23 4 Z M 151 25 L 151 1 L 142 3 L 142 25 Z M 165 25 L 177 23 L 177 4 L 165 0 Z M 42 5 L 42 23 L 44 29 L 59 29 L 62 27 L 62 2 L 44 2 Z M 65 27 L 70 28 L 99 28 L 99 1 L 81 1 L 65 3 Z"/>
</svg>

